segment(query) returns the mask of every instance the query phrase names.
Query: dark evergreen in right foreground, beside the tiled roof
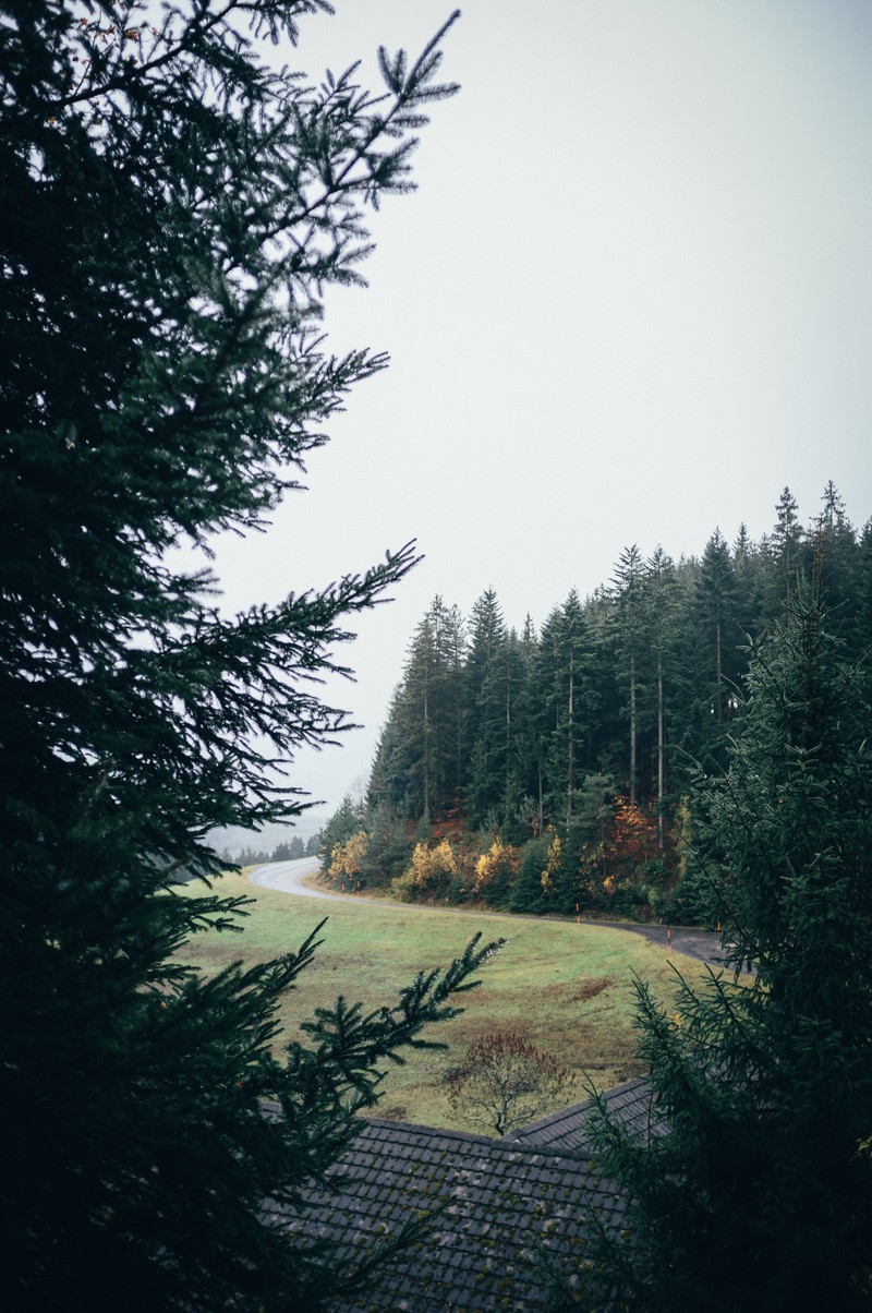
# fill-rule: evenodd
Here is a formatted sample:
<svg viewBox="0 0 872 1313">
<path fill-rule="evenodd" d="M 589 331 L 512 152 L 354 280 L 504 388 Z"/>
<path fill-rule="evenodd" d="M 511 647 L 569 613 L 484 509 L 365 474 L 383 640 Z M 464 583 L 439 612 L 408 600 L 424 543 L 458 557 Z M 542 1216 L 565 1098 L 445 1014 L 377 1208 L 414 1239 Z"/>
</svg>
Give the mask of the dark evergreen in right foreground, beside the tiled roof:
<svg viewBox="0 0 872 1313">
<path fill-rule="evenodd" d="M 695 802 L 734 970 L 670 1007 L 638 986 L 658 1125 L 646 1142 L 600 1109 L 629 1243 L 586 1306 L 872 1304 L 869 708 L 808 590 L 755 643 L 747 689 L 729 769 Z"/>
</svg>

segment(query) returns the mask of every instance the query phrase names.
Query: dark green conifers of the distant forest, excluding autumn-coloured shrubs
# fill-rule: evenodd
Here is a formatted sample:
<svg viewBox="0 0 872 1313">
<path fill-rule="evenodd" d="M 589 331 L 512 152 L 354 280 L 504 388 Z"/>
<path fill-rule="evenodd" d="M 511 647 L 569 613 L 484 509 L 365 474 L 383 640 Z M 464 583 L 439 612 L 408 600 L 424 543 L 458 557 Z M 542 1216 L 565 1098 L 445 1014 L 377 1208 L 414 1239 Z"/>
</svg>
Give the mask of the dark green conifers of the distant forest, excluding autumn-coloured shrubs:
<svg viewBox="0 0 872 1313">
<path fill-rule="evenodd" d="M 872 639 L 872 536 L 855 532 L 831 483 L 818 524 L 822 597 L 846 653 L 859 656 Z M 742 525 L 730 549 L 716 530 L 700 559 L 678 565 L 661 548 L 647 559 L 628 548 L 609 590 L 584 601 L 571 592 L 538 633 L 529 617 L 520 637 L 507 630 L 492 590 L 468 626 L 436 599 L 389 709 L 369 807 L 414 823 L 427 796 L 428 822 L 496 827 L 517 847 L 553 826 L 563 855 L 552 910 L 571 914 L 579 902 L 708 922 L 707 880 L 687 861 L 676 874 L 679 800 L 699 764 L 724 765 L 743 716 L 747 639 L 772 629 L 813 567 L 785 488 L 770 537 L 752 542 Z M 611 785 L 592 843 L 579 807 L 600 776 Z M 646 814 L 655 809 L 657 852 L 628 881 L 594 848 L 619 797 L 632 804 L 633 794 Z M 609 877 L 613 894 L 604 893 Z"/>
</svg>

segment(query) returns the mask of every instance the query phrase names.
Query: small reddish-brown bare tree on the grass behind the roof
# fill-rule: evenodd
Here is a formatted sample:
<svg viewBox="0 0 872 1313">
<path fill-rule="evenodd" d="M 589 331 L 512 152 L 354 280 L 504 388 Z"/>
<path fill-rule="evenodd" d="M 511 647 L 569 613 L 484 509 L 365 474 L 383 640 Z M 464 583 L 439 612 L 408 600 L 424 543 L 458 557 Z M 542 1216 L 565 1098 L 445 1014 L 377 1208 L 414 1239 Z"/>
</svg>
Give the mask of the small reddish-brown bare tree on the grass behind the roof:
<svg viewBox="0 0 872 1313">
<path fill-rule="evenodd" d="M 454 1116 L 504 1136 L 569 1103 L 577 1087 L 575 1071 L 517 1031 L 503 1031 L 470 1044 L 462 1066 L 448 1078 L 448 1102 Z"/>
</svg>

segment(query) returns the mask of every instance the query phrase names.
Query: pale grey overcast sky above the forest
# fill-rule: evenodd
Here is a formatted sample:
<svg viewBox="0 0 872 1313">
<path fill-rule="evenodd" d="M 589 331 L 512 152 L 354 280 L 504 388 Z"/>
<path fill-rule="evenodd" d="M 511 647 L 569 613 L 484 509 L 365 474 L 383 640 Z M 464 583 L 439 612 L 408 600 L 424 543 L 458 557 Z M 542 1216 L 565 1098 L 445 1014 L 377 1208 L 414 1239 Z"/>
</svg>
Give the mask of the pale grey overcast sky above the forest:
<svg viewBox="0 0 872 1313">
<path fill-rule="evenodd" d="M 297 67 L 418 54 L 441 0 L 336 0 Z M 872 516 L 872 5 L 868 0 L 466 0 L 445 42 L 418 192 L 373 217 L 365 291 L 332 348 L 386 349 L 309 491 L 222 544 L 225 605 L 276 601 L 416 538 L 330 685 L 365 730 L 301 754 L 323 823 L 365 779 L 436 593 L 494 588 L 541 625 L 624 546 L 700 554 L 808 523 L 833 479 Z M 269 836 L 272 839 L 272 835 Z"/>
</svg>

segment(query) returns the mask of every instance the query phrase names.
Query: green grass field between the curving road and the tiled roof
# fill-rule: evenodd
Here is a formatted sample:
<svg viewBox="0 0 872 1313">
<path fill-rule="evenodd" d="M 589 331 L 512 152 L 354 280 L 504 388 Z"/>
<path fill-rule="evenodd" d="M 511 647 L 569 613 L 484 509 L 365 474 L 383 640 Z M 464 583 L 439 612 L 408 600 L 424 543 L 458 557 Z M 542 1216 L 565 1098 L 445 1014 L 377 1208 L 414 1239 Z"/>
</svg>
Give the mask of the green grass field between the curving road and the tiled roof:
<svg viewBox="0 0 872 1313">
<path fill-rule="evenodd" d="M 634 1058 L 632 974 L 636 972 L 662 998 L 674 991 L 675 974 L 663 948 L 641 935 L 607 926 L 441 911 L 410 905 L 316 902 L 259 889 L 243 876 L 226 876 L 217 893 L 247 893 L 255 903 L 242 935 L 197 935 L 185 960 L 217 970 L 234 960 L 276 957 L 297 948 L 323 916 L 323 944 L 315 962 L 284 1003 L 289 1037 L 315 1007 L 343 994 L 368 1008 L 393 1003 L 416 972 L 447 965 L 471 936 L 508 943 L 482 970 L 481 989 L 460 1002 L 462 1016 L 433 1027 L 428 1039 L 448 1044 L 445 1052 L 410 1052 L 406 1066 L 391 1066 L 378 1115 L 427 1125 L 482 1130 L 452 1117 L 445 1073 L 458 1064 L 468 1044 L 490 1031 L 519 1029 L 528 1041 L 566 1066 L 588 1073 L 599 1088 L 640 1074 Z M 687 957 L 675 965 L 688 978 L 704 970 Z M 578 1098 L 584 1098 L 579 1083 Z"/>
</svg>

